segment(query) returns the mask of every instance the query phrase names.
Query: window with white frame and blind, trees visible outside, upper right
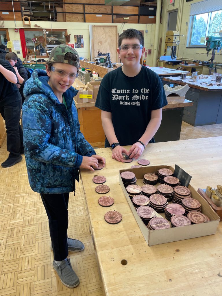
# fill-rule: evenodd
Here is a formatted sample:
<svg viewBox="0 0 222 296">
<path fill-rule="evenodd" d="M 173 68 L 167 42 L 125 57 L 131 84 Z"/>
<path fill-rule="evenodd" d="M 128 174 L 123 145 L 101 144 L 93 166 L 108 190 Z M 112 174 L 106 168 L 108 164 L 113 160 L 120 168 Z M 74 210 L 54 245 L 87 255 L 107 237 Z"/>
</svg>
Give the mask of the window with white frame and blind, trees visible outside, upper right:
<svg viewBox="0 0 222 296">
<path fill-rule="evenodd" d="M 187 46 L 205 47 L 207 36 L 219 36 L 222 30 L 222 4 L 213 5 L 212 2 L 206 0 L 191 5 Z"/>
</svg>

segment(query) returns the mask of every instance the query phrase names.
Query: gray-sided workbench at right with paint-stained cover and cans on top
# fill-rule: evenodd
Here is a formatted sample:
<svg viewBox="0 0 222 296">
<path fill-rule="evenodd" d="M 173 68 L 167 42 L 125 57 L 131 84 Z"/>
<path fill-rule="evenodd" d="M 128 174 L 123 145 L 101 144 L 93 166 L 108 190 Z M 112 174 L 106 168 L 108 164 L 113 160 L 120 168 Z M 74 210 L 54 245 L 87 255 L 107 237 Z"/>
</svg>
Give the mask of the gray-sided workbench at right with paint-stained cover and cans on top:
<svg viewBox="0 0 222 296">
<path fill-rule="evenodd" d="M 189 78 L 183 81 L 180 77 L 163 78 L 168 84 L 189 85 L 190 89 L 186 93 L 186 99 L 194 104 L 192 107 L 184 108 L 183 120 L 192 126 L 222 123 L 222 86 L 211 81 L 211 77 L 198 82 L 190 81 Z M 207 86 L 204 82 L 214 85 Z"/>
</svg>

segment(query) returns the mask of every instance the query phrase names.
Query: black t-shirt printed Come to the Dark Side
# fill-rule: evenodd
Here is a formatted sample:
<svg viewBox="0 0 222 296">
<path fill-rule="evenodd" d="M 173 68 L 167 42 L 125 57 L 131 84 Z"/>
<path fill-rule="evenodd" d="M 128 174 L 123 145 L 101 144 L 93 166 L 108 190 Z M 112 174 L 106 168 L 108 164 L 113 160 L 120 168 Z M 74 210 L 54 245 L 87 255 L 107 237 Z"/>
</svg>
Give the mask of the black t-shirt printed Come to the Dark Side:
<svg viewBox="0 0 222 296">
<path fill-rule="evenodd" d="M 95 104 L 112 113 L 115 135 L 121 146 L 136 143 L 147 128 L 151 111 L 165 105 L 167 100 L 159 76 L 144 66 L 134 77 L 126 76 L 121 67 L 107 73 Z"/>
</svg>

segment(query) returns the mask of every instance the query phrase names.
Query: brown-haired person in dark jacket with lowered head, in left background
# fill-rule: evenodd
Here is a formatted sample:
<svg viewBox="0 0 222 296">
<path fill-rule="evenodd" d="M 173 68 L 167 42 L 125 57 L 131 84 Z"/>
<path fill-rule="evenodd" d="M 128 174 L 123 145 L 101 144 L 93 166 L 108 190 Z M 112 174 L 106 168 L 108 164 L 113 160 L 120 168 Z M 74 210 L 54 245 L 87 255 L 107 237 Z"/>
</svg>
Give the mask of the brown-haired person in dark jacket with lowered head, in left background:
<svg viewBox="0 0 222 296">
<path fill-rule="evenodd" d="M 12 67 L 15 69 L 15 73 L 18 77 L 20 88 L 19 92 L 22 96 L 22 104 L 25 101 L 25 98 L 23 96 L 23 88 L 25 85 L 25 82 L 28 80 L 28 72 L 25 69 L 25 67 L 22 65 L 22 61 L 20 58 L 18 58 L 17 54 L 15 52 L 8 52 L 5 56 L 5 59 L 9 61 L 9 63 L 12 65 Z"/>
</svg>

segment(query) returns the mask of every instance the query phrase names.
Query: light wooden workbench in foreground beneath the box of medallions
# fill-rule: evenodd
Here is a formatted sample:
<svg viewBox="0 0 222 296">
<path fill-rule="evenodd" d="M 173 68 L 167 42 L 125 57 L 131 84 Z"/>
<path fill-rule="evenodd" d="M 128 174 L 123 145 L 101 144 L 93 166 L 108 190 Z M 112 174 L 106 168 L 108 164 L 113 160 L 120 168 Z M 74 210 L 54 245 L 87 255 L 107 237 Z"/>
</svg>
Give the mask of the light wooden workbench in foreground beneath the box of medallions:
<svg viewBox="0 0 222 296">
<path fill-rule="evenodd" d="M 192 176 L 197 190 L 221 184 L 221 147 L 222 137 L 154 143 L 147 145 L 141 158 L 149 159 L 150 165 L 179 165 Z M 214 235 L 149 247 L 119 184 L 119 170 L 137 161 L 113 160 L 110 148 L 96 149 L 96 153 L 106 157 L 105 168 L 81 169 L 81 179 L 104 295 L 221 296 L 222 222 Z M 108 195 L 115 200 L 111 207 L 98 205 L 101 195 L 95 192 L 94 175 L 107 178 Z M 104 221 L 110 210 L 122 214 L 119 224 Z"/>
</svg>

